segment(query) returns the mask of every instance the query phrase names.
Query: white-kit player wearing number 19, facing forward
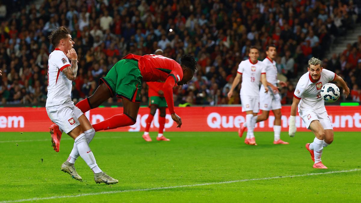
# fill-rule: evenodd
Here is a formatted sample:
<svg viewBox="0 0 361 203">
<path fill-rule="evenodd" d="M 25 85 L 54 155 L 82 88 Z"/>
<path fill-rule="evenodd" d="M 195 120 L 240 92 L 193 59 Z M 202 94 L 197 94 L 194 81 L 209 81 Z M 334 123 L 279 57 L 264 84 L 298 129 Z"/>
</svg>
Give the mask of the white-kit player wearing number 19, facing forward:
<svg viewBox="0 0 361 203">
<path fill-rule="evenodd" d="M 242 79 L 240 91 L 242 112 L 246 112 L 246 123 L 247 126 L 249 126 L 244 143 L 257 145 L 253 129 L 255 128 L 257 113 L 259 111 L 260 80 L 262 81 L 265 92 L 268 92 L 266 66 L 261 61 L 257 60 L 259 56 L 258 48 L 251 47 L 248 56 L 248 60 L 244 60 L 238 65 L 237 75 L 234 78 L 232 87 L 227 96 L 228 98 L 231 98 L 234 88 Z"/>
</svg>

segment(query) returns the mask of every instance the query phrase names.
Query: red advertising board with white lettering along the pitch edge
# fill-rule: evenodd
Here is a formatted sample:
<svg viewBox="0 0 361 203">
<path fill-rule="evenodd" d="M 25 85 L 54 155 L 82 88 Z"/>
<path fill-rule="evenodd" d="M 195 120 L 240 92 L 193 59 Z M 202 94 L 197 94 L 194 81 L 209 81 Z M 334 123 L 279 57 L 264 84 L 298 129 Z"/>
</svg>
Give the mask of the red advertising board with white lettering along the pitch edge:
<svg viewBox="0 0 361 203">
<path fill-rule="evenodd" d="M 288 131 L 290 106 L 282 107 L 282 131 Z M 329 117 L 336 131 L 360 131 L 361 107 L 327 106 Z M 85 113 L 92 124 L 122 113 L 119 108 L 96 108 Z M 177 129 L 170 115 L 166 116 L 165 131 L 236 131 L 245 121 L 242 107 L 176 107 L 175 112 L 182 118 L 182 128 Z M 140 108 L 135 125 L 111 131 L 143 131 L 149 108 Z M 158 114 L 156 114 L 158 115 Z M 255 131 L 273 131 L 274 116 L 257 124 Z M 0 108 L 0 132 L 6 131 L 48 131 L 52 124 L 45 108 L 4 107 Z M 151 131 L 157 131 L 158 116 L 154 117 Z M 296 118 L 297 131 L 307 131 L 302 119 Z"/>
</svg>

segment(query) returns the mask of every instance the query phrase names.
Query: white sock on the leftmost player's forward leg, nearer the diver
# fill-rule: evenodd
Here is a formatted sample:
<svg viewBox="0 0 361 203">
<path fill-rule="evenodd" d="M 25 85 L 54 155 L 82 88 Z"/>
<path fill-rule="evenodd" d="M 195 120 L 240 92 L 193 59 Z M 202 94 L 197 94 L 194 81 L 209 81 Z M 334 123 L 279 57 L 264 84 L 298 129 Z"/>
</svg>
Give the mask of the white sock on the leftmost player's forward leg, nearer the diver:
<svg viewBox="0 0 361 203">
<path fill-rule="evenodd" d="M 93 152 L 90 150 L 90 147 L 86 140 L 87 139 L 84 133 L 80 134 L 77 138 L 75 138 L 75 144 L 77 144 L 79 154 L 88 164 L 88 166 L 93 170 L 94 173 L 100 173 L 101 170 L 96 164 Z"/>
</svg>

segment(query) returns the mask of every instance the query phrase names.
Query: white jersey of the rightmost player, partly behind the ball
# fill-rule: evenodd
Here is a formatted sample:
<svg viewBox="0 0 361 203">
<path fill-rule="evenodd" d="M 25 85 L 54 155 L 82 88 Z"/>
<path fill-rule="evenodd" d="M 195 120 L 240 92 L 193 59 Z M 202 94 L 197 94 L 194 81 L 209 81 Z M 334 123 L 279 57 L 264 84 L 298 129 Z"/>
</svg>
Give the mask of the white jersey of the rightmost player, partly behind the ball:
<svg viewBox="0 0 361 203">
<path fill-rule="evenodd" d="M 321 88 L 329 81 L 333 81 L 336 73 L 322 69 L 321 77 L 318 81 L 313 81 L 309 72 L 303 74 L 297 83 L 296 90 L 293 96 L 301 99 L 298 104 L 299 111 L 305 109 L 325 109 L 325 102 L 321 97 Z"/>
</svg>

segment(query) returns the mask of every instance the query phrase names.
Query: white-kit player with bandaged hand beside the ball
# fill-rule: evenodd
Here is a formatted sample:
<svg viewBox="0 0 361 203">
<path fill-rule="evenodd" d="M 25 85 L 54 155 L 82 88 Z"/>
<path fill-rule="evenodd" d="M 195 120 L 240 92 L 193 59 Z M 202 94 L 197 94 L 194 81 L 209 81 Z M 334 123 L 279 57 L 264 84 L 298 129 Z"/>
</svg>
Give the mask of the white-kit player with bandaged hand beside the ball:
<svg viewBox="0 0 361 203">
<path fill-rule="evenodd" d="M 288 134 L 293 137 L 296 133 L 296 110 L 306 124 L 306 128 L 312 130 L 315 138 L 312 143 L 306 144 L 306 149 L 314 161 L 313 168 L 327 169 L 322 164 L 321 156 L 323 147 L 327 147 L 334 140 L 334 130 L 327 115 L 325 103 L 321 98 L 320 90 L 329 81 L 338 82 L 343 87 L 343 93 L 347 96 L 350 89 L 345 81 L 336 73 L 322 68 L 322 62 L 312 57 L 308 61 L 308 72 L 303 74 L 297 83 L 291 106 L 291 117 Z"/>
</svg>

